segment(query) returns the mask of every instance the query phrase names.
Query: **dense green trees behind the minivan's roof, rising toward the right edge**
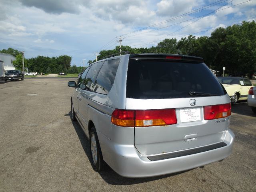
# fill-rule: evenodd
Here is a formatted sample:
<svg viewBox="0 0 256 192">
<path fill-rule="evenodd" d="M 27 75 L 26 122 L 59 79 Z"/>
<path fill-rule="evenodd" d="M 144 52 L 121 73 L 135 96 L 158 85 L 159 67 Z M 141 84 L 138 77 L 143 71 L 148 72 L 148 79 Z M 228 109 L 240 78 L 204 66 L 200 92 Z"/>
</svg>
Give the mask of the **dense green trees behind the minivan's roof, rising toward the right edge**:
<svg viewBox="0 0 256 192">
<path fill-rule="evenodd" d="M 227 28 L 217 28 L 211 35 L 196 38 L 193 35 L 181 38 L 167 38 L 150 48 L 131 48 L 122 46 L 122 51 L 131 54 L 165 53 L 199 56 L 205 64 L 222 73 L 226 67 L 227 74 L 253 74 L 256 72 L 256 23 L 242 22 Z M 98 59 L 118 53 L 120 47 L 113 50 L 102 50 Z M 95 62 L 94 61 L 89 61 Z"/>
</svg>

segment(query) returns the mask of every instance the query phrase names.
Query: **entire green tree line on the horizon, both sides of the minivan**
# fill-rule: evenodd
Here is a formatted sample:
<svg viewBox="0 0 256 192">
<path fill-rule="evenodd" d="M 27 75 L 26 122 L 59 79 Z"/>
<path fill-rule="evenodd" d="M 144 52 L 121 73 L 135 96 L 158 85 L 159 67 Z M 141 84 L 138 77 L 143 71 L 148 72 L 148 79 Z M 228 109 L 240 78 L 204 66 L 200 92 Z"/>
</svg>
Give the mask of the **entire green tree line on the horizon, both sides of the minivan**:
<svg viewBox="0 0 256 192">
<path fill-rule="evenodd" d="M 157 46 L 150 48 L 132 48 L 122 46 L 122 51 L 130 54 L 139 53 L 164 53 L 183 54 L 199 56 L 204 58 L 205 64 L 216 71 L 222 72 L 226 67 L 227 74 L 253 74 L 256 72 L 256 23 L 242 22 L 227 28 L 217 28 L 210 36 L 196 38 L 193 35 L 181 38 L 166 38 L 159 42 Z M 101 50 L 98 60 L 105 56 L 118 53 L 119 46 L 112 50 Z M 18 69 L 22 67 L 22 54 L 18 50 L 8 48 L 0 52 L 16 56 L 14 66 Z M 38 56 L 36 58 L 25 59 L 25 66 L 29 71 L 46 73 L 78 73 L 83 70 L 76 65 L 71 66 L 71 56 L 61 55 L 58 57 Z M 89 60 L 88 64 L 95 62 Z"/>
</svg>

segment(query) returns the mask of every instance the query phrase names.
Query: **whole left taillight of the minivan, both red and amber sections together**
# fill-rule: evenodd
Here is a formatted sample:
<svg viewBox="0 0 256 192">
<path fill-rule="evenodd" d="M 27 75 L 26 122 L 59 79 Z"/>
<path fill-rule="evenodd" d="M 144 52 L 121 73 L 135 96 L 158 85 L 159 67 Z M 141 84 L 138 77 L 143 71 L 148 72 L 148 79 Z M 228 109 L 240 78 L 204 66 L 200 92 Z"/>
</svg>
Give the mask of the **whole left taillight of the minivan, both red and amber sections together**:
<svg viewBox="0 0 256 192">
<path fill-rule="evenodd" d="M 147 127 L 172 125 L 177 123 L 175 109 L 120 110 L 111 116 L 112 124 L 124 127 Z"/>
</svg>

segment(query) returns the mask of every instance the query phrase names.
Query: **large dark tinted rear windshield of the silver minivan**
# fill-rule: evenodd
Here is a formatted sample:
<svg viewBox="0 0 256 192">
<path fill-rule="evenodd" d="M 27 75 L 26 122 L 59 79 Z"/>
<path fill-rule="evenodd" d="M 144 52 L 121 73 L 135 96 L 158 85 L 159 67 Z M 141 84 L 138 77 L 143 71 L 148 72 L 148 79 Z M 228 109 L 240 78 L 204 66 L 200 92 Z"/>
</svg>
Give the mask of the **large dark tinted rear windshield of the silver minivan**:
<svg viewBox="0 0 256 192">
<path fill-rule="evenodd" d="M 188 98 L 189 92 L 225 95 L 220 82 L 204 63 L 130 60 L 126 97 L 137 99 Z"/>
</svg>

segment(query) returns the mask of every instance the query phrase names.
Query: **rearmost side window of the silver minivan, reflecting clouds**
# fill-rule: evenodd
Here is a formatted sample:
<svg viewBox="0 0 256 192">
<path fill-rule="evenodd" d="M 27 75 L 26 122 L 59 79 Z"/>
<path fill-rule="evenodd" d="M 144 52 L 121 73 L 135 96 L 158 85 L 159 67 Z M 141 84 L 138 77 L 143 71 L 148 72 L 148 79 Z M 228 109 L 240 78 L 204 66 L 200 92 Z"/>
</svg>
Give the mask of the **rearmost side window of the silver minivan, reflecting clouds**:
<svg viewBox="0 0 256 192">
<path fill-rule="evenodd" d="M 104 62 L 96 78 L 93 88 L 94 92 L 108 94 L 114 83 L 119 63 L 120 59 L 107 60 Z"/>
</svg>

